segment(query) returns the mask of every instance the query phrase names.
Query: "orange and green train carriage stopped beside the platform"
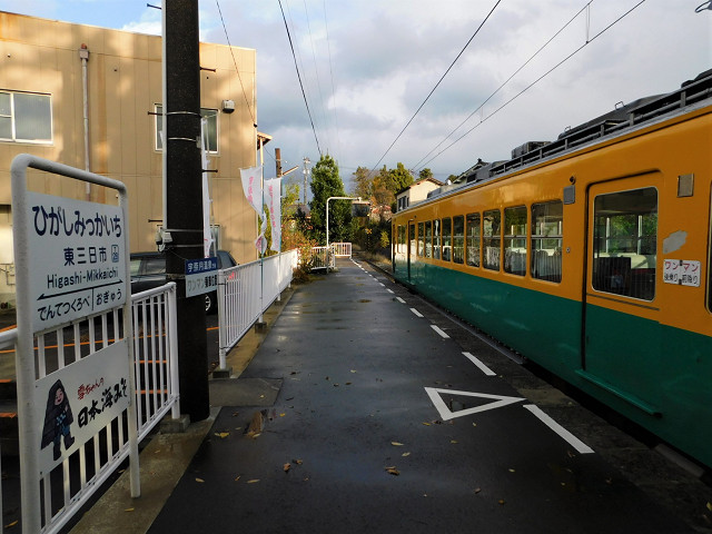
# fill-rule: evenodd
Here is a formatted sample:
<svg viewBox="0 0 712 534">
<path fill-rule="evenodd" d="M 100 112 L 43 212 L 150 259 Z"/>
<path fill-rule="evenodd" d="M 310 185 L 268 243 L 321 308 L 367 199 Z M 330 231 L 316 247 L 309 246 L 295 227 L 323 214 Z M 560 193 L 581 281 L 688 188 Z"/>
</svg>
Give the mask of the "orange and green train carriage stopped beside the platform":
<svg viewBox="0 0 712 534">
<path fill-rule="evenodd" d="M 711 201 L 712 69 L 398 210 L 393 276 L 709 469 Z"/>
</svg>

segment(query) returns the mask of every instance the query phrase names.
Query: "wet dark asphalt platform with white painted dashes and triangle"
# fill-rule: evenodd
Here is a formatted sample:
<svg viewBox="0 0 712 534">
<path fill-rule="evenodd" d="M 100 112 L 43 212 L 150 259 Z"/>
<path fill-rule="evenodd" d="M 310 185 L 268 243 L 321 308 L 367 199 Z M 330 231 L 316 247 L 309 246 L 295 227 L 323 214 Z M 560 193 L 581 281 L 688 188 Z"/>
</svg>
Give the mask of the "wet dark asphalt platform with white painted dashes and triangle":
<svg viewBox="0 0 712 534">
<path fill-rule="evenodd" d="M 141 454 L 187 451 L 165 497 L 149 471 L 87 532 L 712 532 L 708 485 L 366 264 L 299 286 L 222 384 Z"/>
</svg>

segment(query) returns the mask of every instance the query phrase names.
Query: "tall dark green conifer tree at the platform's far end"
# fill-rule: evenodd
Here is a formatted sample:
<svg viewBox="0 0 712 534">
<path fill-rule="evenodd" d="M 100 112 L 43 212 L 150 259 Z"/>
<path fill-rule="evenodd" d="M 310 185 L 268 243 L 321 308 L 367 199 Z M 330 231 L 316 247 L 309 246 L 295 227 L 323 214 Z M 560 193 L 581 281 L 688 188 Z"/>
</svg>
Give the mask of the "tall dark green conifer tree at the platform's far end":
<svg viewBox="0 0 712 534">
<path fill-rule="evenodd" d="M 338 166 L 328 154 L 322 156 L 312 170 L 312 237 L 318 243 L 326 240 L 326 202 L 329 197 L 345 197 L 344 182 Z M 329 202 L 329 243 L 350 240 L 350 200 Z"/>
</svg>

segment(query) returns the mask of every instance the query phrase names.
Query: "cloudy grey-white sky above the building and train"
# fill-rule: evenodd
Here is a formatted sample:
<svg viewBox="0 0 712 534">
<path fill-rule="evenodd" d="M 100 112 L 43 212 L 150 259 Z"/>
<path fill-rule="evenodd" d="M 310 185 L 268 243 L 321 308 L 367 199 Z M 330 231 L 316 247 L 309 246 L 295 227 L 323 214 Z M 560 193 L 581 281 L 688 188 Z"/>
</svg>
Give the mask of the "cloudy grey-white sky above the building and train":
<svg viewBox="0 0 712 534">
<path fill-rule="evenodd" d="M 161 31 L 147 0 L 0 0 L 0 10 Z M 508 159 L 712 68 L 705 0 L 200 0 L 199 13 L 202 41 L 257 50 L 266 168 L 275 148 L 283 169 L 328 154 L 347 191 L 357 167 L 402 162 L 445 180 L 477 158 Z"/>
</svg>

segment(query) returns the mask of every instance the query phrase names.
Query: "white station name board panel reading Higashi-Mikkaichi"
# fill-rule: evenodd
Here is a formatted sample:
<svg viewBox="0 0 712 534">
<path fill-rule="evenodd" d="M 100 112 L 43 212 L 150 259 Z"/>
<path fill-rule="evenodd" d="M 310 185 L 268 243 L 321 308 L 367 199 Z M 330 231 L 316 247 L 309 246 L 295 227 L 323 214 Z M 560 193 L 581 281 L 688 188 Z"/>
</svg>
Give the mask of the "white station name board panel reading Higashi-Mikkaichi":
<svg viewBox="0 0 712 534">
<path fill-rule="evenodd" d="M 32 191 L 27 197 L 33 332 L 123 305 L 121 208 Z"/>
</svg>

